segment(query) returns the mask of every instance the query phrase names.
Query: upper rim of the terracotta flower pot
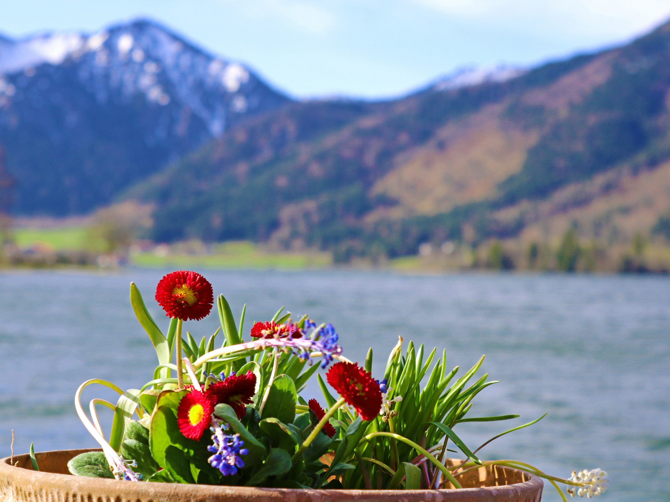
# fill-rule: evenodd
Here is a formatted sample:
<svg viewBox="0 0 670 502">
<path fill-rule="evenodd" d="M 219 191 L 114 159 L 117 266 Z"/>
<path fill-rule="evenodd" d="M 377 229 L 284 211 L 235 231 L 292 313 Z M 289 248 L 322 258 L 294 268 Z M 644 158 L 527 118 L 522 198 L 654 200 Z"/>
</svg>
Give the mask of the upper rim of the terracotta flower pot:
<svg viewBox="0 0 670 502">
<path fill-rule="evenodd" d="M 99 448 L 81 448 L 76 450 L 52 450 L 46 452 L 36 452 L 36 457 L 38 463 L 40 461 L 40 456 L 48 456 L 50 454 L 59 454 L 63 455 L 66 452 L 71 454 L 70 458 L 74 456 L 90 451 L 101 451 Z M 32 471 L 26 469 L 25 467 L 19 467 L 11 465 L 11 457 L 7 456 L 0 459 L 0 485 L 62 485 L 62 483 L 72 484 L 73 487 L 83 488 L 90 487 L 90 489 L 98 489 L 109 491 L 113 489 L 115 491 L 132 491 L 133 496 L 141 496 L 143 493 L 151 492 L 151 495 L 176 495 L 176 491 L 182 493 L 188 492 L 188 495 L 195 496 L 196 499 L 200 497 L 206 498 L 208 495 L 230 495 L 232 497 L 241 497 L 240 499 L 249 500 L 249 497 L 259 496 L 263 493 L 263 496 L 268 497 L 274 495 L 275 497 L 289 497 L 292 501 L 303 500 L 303 501 L 323 501 L 324 495 L 326 498 L 339 499 L 340 501 L 344 500 L 360 500 L 360 499 L 369 499 L 371 495 L 375 499 L 398 499 L 401 497 L 403 501 L 427 501 L 430 499 L 438 500 L 442 499 L 441 495 L 456 495 L 457 493 L 462 493 L 463 495 L 471 494 L 473 492 L 492 492 L 490 495 L 513 495 L 513 493 L 519 493 L 519 491 L 537 491 L 542 493 L 542 488 L 544 483 L 541 478 L 532 475 L 530 473 L 524 473 L 529 479 L 523 481 L 522 483 L 513 483 L 510 485 L 498 485 L 492 487 L 478 487 L 478 488 L 462 488 L 462 489 L 423 489 L 423 490 L 352 490 L 352 489 L 295 489 L 295 488 L 259 488 L 259 487 L 236 487 L 236 486 L 222 486 L 222 485 L 195 485 L 195 484 L 182 484 L 182 483 L 133 483 L 129 481 L 123 485 L 119 484 L 117 479 L 103 479 L 103 478 L 94 478 L 94 477 L 78 477 L 71 474 L 58 474 L 58 473 L 49 473 L 44 471 Z M 29 465 L 29 455 L 20 454 L 14 455 L 14 461 L 18 463 L 23 463 L 24 465 Z M 510 467 L 498 467 L 499 469 L 505 469 L 509 471 L 517 471 Z M 11 480 L 11 481 L 10 481 Z M 4 488 L 4 486 L 0 486 Z M 259 491 L 261 491 L 259 493 Z M 503 493 L 500 493 L 503 492 Z M 510 492 L 505 494 L 505 492 Z M 430 495 L 429 495 L 430 494 Z M 505 500 L 513 500 L 511 498 L 504 497 Z M 458 499 L 460 497 L 457 497 Z M 192 500 L 192 498 L 190 498 Z M 454 500 L 456 500 L 454 499 Z M 488 499 L 487 499 L 488 500 Z M 539 500 L 539 499 L 538 499 Z"/>
</svg>

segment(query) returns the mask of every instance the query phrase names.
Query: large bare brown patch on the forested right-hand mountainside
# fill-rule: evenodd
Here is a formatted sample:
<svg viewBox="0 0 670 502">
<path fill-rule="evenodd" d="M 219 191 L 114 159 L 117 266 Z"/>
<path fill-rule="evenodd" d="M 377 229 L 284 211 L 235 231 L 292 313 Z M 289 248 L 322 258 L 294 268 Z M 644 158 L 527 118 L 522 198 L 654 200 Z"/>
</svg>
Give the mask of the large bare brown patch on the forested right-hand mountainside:
<svg viewBox="0 0 670 502">
<path fill-rule="evenodd" d="M 397 167 L 375 183 L 372 193 L 397 199 L 402 207 L 394 213 L 397 217 L 444 213 L 492 199 L 498 183 L 521 171 L 539 135 L 609 78 L 615 56 L 616 51 L 605 52 L 549 86 L 449 122 L 425 145 L 398 155 Z M 529 126 L 509 113 L 515 102 L 552 113 L 542 124 Z"/>
</svg>

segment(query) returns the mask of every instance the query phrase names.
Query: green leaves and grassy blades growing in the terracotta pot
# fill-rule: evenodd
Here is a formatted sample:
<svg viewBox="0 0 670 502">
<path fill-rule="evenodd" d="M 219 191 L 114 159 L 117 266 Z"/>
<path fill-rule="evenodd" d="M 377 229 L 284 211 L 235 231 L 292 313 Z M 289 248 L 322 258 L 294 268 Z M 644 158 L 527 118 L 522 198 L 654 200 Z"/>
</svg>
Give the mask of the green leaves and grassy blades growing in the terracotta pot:
<svg viewBox="0 0 670 502">
<path fill-rule="evenodd" d="M 136 288 L 133 297 L 138 320 L 147 333 L 158 346 L 170 345 L 143 308 Z M 223 297 L 218 298 L 218 310 L 226 337 L 224 347 L 239 344 L 241 335 Z M 283 307 L 275 314 L 277 323 L 289 322 L 291 315 L 282 313 Z M 297 323 L 304 325 L 305 319 L 302 317 Z M 169 331 L 168 335 L 174 338 L 174 333 L 170 335 Z M 187 333 L 185 351 L 188 347 L 193 361 L 217 351 L 215 337 L 216 333 L 209 339 L 202 337 L 198 343 Z M 220 351 L 216 353 L 221 354 Z M 174 390 L 174 378 L 154 378 L 141 392 L 128 390 L 119 398 L 110 444 L 119 450 L 121 457 L 137 475 L 141 475 L 141 479 L 151 482 L 313 489 L 426 489 L 435 487 L 438 480 L 446 479 L 458 487 L 458 481 L 442 464 L 448 442 L 454 444 L 472 465 L 482 463 L 477 456 L 481 446 L 476 450 L 470 448 L 454 428 L 468 422 L 509 420 L 518 415 L 468 417 L 474 398 L 497 382 L 489 381 L 487 374 L 476 376 L 483 356 L 464 375 L 456 378 L 459 368 L 449 370 L 446 367 L 446 351 L 442 351 L 441 357 L 437 355 L 437 349 L 426 353 L 423 345 L 415 347 L 411 341 L 403 350 L 400 339 L 387 359 L 384 374 L 387 388 L 393 389 L 389 391 L 390 401 L 385 402 L 383 414 L 363 421 L 352 410 L 340 408 L 343 400 L 331 394 L 326 382 L 316 373 L 318 365 L 306 367 L 306 361 L 289 351 L 257 345 L 238 351 L 231 347 L 230 353 L 221 357 L 212 354 L 210 361 L 202 365 L 198 363 L 200 366 L 195 368 L 194 378 L 199 379 L 201 386 L 206 385 L 201 370 L 206 364 L 221 367 L 230 374 L 233 363 L 238 362 L 239 371 L 245 374 L 251 371 L 256 376 L 253 402 L 246 407 L 242 418 L 228 404 L 214 407 L 214 430 L 220 426 L 218 434 L 223 432 L 228 438 L 239 435 L 246 450 L 240 452 L 244 465 L 238 465 L 239 470 L 234 475 L 224 476 L 210 465 L 211 434 L 206 432 L 196 441 L 186 438 L 180 431 L 178 408 L 191 391 Z M 247 357 L 251 360 L 247 361 Z M 373 352 L 370 350 L 365 367 L 370 369 L 372 365 Z M 176 369 L 169 362 L 159 364 L 154 375 L 166 368 Z M 335 428 L 333 437 L 320 428 L 321 420 L 308 410 L 306 400 L 299 396 L 299 389 L 315 373 L 330 424 Z M 188 373 L 184 379 L 186 383 L 190 382 Z M 261 397 L 266 395 L 267 399 L 263 401 Z M 142 422 L 131 420 L 138 404 L 145 412 L 151 412 L 148 428 L 143 426 L 145 419 Z M 414 465 L 421 455 L 428 461 L 427 480 Z M 70 471 L 77 475 L 112 477 L 106 469 L 106 461 L 101 463 L 103 458 L 102 454 L 77 457 L 78 460 L 72 461 Z"/>
</svg>

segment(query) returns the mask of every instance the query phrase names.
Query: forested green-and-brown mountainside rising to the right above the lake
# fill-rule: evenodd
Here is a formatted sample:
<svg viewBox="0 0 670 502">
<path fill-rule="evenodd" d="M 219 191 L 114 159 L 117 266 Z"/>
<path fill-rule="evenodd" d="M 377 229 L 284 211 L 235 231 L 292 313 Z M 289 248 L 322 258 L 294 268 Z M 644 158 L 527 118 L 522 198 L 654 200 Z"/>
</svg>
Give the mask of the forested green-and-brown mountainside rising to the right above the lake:
<svg viewBox="0 0 670 502">
<path fill-rule="evenodd" d="M 268 112 L 185 157 L 160 181 L 140 183 L 133 196 L 157 204 L 154 235 L 165 241 L 270 240 L 347 260 L 415 254 L 422 242 L 513 238 L 533 219 L 527 210 L 503 218 L 506 207 L 533 205 L 622 165 L 655 169 L 670 157 L 668 63 L 666 23 L 625 46 L 499 82 L 428 86 L 371 103 L 322 137 L 300 141 L 296 133 L 263 150 L 259 131 L 286 120 L 286 110 Z M 294 120 L 291 127 L 304 126 Z M 161 196 L 149 195 L 158 185 Z M 658 210 L 666 206 L 670 197 Z M 582 225 L 596 238 L 603 224 Z"/>
</svg>

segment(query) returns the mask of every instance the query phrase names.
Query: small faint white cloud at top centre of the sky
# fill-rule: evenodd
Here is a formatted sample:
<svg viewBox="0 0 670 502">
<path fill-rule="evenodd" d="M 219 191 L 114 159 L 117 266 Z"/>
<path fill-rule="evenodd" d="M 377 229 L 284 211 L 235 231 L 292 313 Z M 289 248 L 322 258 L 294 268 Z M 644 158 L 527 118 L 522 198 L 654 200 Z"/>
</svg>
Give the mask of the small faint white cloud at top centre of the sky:
<svg viewBox="0 0 670 502">
<path fill-rule="evenodd" d="M 270 17 L 308 33 L 328 33 L 336 24 L 334 13 L 316 2 L 299 0 L 232 0 L 248 13 Z"/>
</svg>

